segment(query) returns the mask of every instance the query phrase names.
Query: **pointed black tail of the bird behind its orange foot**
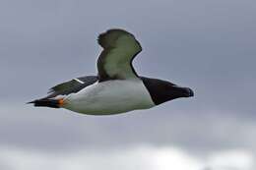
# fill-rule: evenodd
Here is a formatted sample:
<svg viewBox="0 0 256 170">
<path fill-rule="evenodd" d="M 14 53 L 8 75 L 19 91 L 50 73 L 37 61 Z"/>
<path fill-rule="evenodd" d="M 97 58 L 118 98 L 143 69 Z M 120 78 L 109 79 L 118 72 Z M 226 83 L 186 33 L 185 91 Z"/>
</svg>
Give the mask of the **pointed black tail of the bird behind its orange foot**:
<svg viewBox="0 0 256 170">
<path fill-rule="evenodd" d="M 31 104 L 31 103 L 33 103 L 35 107 L 51 107 L 51 108 L 60 107 L 59 101 L 56 99 L 42 98 L 42 99 L 33 100 L 31 102 L 28 102 L 27 104 Z"/>
</svg>

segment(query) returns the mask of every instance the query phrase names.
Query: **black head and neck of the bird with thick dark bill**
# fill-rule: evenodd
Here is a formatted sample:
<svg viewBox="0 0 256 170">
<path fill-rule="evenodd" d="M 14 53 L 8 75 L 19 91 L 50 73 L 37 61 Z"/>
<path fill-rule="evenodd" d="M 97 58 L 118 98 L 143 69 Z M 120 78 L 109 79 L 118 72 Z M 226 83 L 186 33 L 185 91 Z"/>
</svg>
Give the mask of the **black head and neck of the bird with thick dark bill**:
<svg viewBox="0 0 256 170">
<path fill-rule="evenodd" d="M 193 90 L 189 87 L 182 87 L 157 79 L 144 77 L 141 79 L 157 105 L 175 98 L 194 96 Z"/>
</svg>

